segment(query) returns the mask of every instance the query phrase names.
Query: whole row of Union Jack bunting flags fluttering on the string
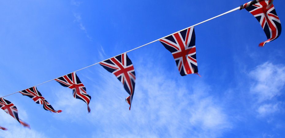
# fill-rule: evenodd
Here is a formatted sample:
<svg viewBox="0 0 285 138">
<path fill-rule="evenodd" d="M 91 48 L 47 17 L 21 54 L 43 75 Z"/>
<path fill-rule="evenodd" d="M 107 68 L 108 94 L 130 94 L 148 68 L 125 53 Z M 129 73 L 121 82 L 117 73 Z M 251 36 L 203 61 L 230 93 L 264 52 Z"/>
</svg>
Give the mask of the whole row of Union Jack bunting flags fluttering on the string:
<svg viewBox="0 0 285 138">
<path fill-rule="evenodd" d="M 239 7 L 239 10 L 246 9 L 249 11 L 258 20 L 261 27 L 263 28 L 268 40 L 261 42 L 259 44 L 261 47 L 263 47 L 266 43 L 277 39 L 281 34 L 281 22 L 277 16 L 272 2 L 273 0 L 253 0 Z M 188 74 L 198 74 L 195 44 L 196 35 L 194 26 L 166 36 L 162 39 L 158 39 L 156 41 L 160 41 L 161 44 L 172 54 L 181 76 Z M 127 56 L 127 53 L 123 53 L 121 55 L 104 60 L 99 64 L 108 72 L 114 74 L 117 79 L 123 84 L 124 89 L 129 94 L 125 100 L 129 104 L 130 110 L 135 92 L 136 77 L 135 68 L 131 59 Z M 76 72 L 72 72 L 68 75 L 61 76 L 54 80 L 56 82 L 59 82 L 61 86 L 72 89 L 73 97 L 85 102 L 87 104 L 88 113 L 91 111 L 89 107 L 91 96 L 87 94 L 86 88 L 80 81 Z M 51 113 L 62 112 L 62 110 L 55 110 L 51 104 L 43 97 L 40 91 L 37 90 L 36 86 L 19 91 L 19 93 L 24 96 L 28 96 L 34 102 L 36 102 L 36 104 L 43 105 L 43 108 L 47 111 L 50 111 Z M 27 123 L 19 119 L 17 107 L 3 97 L 0 98 L 0 108 L 15 118 L 21 125 L 30 128 Z M 7 130 L 1 126 L 0 129 Z"/>
</svg>

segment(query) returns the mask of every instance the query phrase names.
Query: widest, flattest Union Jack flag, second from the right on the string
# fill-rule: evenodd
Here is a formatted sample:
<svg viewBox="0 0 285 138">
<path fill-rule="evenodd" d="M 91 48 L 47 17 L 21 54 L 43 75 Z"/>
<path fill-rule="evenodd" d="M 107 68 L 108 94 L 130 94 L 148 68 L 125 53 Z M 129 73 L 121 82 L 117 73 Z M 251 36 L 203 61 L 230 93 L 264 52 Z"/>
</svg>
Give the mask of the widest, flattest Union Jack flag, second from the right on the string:
<svg viewBox="0 0 285 138">
<path fill-rule="evenodd" d="M 191 27 L 159 40 L 172 53 L 181 76 L 198 74 L 195 39 L 194 27 Z"/>
</svg>

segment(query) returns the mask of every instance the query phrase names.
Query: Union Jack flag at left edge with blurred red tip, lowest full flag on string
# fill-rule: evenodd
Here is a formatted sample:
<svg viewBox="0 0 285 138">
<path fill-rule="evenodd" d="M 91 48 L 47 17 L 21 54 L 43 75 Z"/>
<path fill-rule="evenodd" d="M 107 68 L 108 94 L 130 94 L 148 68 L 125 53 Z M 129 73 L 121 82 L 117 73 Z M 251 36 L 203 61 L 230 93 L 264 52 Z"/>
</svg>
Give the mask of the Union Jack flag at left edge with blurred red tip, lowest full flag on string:
<svg viewBox="0 0 285 138">
<path fill-rule="evenodd" d="M 30 125 L 19 119 L 17 107 L 8 100 L 0 98 L 0 108 L 3 109 L 6 113 L 14 117 L 21 125 L 30 128 Z"/>
</svg>

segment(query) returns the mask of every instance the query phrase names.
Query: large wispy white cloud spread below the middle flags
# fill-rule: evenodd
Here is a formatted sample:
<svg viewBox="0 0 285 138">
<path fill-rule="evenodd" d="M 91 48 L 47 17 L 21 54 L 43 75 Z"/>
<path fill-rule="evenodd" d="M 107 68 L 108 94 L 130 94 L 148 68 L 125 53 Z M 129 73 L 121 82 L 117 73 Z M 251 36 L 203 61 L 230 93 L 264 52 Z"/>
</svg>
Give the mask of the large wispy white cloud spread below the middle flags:
<svg viewBox="0 0 285 138">
<path fill-rule="evenodd" d="M 137 75 L 131 111 L 120 81 L 98 67 L 100 81 L 87 88 L 93 95 L 91 113 L 87 114 L 82 101 L 59 96 L 61 102 L 55 105 L 63 108 L 59 119 L 92 123 L 100 128 L 93 132 L 93 137 L 218 137 L 231 128 L 222 106 L 207 94 L 210 91 L 207 85 L 197 83 L 194 88 L 168 79 L 163 72 L 137 71 L 144 73 Z M 82 103 L 80 107 L 76 107 L 79 102 L 74 100 Z M 84 109 L 79 111 L 80 108 Z"/>
</svg>

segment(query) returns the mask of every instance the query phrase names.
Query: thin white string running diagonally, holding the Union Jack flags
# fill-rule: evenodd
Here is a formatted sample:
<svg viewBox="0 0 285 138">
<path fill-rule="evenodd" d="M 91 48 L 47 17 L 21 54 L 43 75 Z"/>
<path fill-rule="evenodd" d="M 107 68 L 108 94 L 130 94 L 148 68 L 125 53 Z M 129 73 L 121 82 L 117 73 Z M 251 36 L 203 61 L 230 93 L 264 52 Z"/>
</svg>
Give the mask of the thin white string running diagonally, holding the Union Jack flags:
<svg viewBox="0 0 285 138">
<path fill-rule="evenodd" d="M 223 15 L 225 15 L 225 14 L 231 13 L 231 12 L 233 12 L 233 11 L 235 11 L 235 10 L 239 10 L 239 9 L 240 9 L 240 7 L 234 8 L 233 10 L 229 10 L 229 11 L 227 11 L 227 12 L 225 12 L 225 13 L 222 13 L 222 14 L 220 14 L 220 15 L 218 15 L 218 16 L 215 16 L 215 17 L 212 17 L 212 18 L 207 19 L 207 20 L 205 20 L 205 21 L 199 22 L 199 23 L 197 23 L 197 24 L 195 24 L 195 25 L 192 25 L 192 26 L 190 26 L 190 27 L 184 28 L 184 29 L 179 30 L 179 31 L 177 31 L 177 32 L 175 32 L 175 33 L 181 32 L 181 31 L 183 31 L 183 30 L 186 30 L 186 29 L 188 29 L 188 28 L 194 27 L 194 26 L 196 26 L 196 25 L 200 25 L 200 24 L 202 24 L 202 23 L 204 23 L 204 22 L 210 21 L 210 20 L 212 20 L 212 19 L 215 19 L 215 18 L 217 18 L 217 17 L 223 16 Z M 161 40 L 161 39 L 163 39 L 163 38 L 165 38 L 165 37 L 171 36 L 171 35 L 173 35 L 173 34 L 175 34 L 175 33 L 172 33 L 172 34 L 167 35 L 167 36 L 163 36 L 163 37 L 161 37 L 161 38 L 159 38 L 159 39 L 157 39 L 157 40 L 154 40 L 154 41 L 149 42 L 149 43 L 147 43 L 147 44 L 141 45 L 141 46 L 139 46 L 139 47 L 137 47 L 137 48 L 134 48 L 134 49 L 131 49 L 131 50 L 127 51 L 127 52 L 131 52 L 131 51 L 133 51 L 133 50 L 135 50 L 135 49 L 138 49 L 138 48 L 141 48 L 141 47 L 146 46 L 146 45 L 148 45 L 148 44 L 154 43 L 154 42 L 156 42 L 156 41 L 158 41 L 158 40 Z M 124 53 L 127 53 L 127 52 L 124 52 Z M 120 55 L 122 55 L 122 54 L 124 54 L 124 53 L 121 53 L 121 54 L 119 54 L 119 55 L 117 55 L 117 56 L 120 56 Z M 108 59 L 112 59 L 112 58 L 114 58 L 114 57 L 116 57 L 116 56 L 113 56 L 113 57 L 108 58 Z M 108 60 L 108 59 L 105 59 L 105 60 Z M 105 60 L 103 60 L 103 61 L 105 61 Z M 76 71 L 73 71 L 73 72 L 81 71 L 81 70 L 83 70 L 83 69 L 85 69 L 85 68 L 94 66 L 94 65 L 99 64 L 99 63 L 101 63 L 101 62 L 103 62 L 103 61 L 94 63 L 94 64 L 89 65 L 89 66 L 87 66 L 87 67 L 83 67 L 83 68 L 81 68 L 81 69 L 79 69 L 79 70 L 76 70 Z M 72 73 L 72 72 L 71 72 L 71 73 Z M 70 74 L 70 73 L 68 73 L 68 74 Z M 68 74 L 66 74 L 66 75 L 68 75 Z M 65 75 L 63 75 L 63 76 L 65 76 Z M 60 76 L 60 77 L 62 77 L 62 76 Z M 57 78 L 59 78 L 59 77 L 57 77 Z M 55 79 L 57 79 L 57 78 L 55 78 Z M 42 82 L 42 83 L 37 84 L 37 85 L 35 85 L 35 86 L 39 86 L 39 85 L 41 85 L 41 84 L 50 82 L 50 81 L 52 81 L 52 80 L 54 80 L 54 79 L 48 80 L 48 81 L 46 81 L 46 82 Z M 32 86 L 32 87 L 35 87 L 35 86 Z M 29 87 L 29 88 L 31 88 L 31 87 Z M 24 89 L 24 90 L 26 90 L 26 89 Z M 23 90 L 21 90 L 21 91 L 23 91 Z M 18 93 L 18 92 L 20 92 L 20 91 L 14 92 L 14 93 L 12 93 L 12 94 L 16 94 L 16 93 Z M 8 95 L 2 96 L 2 97 L 0 97 L 0 98 L 4 98 L 4 97 L 9 96 L 9 95 L 12 95 L 12 94 L 8 94 Z"/>
</svg>

